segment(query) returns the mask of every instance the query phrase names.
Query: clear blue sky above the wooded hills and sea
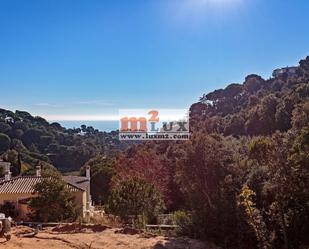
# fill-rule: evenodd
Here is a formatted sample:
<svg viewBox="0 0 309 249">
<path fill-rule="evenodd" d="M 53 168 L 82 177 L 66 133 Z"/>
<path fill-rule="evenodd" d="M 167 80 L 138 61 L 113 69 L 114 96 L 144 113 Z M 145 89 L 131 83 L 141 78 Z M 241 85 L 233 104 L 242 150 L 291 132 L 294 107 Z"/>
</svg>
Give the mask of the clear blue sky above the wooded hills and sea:
<svg viewBox="0 0 309 249">
<path fill-rule="evenodd" d="M 0 0 L 0 107 L 188 108 L 309 55 L 308 13 L 306 0 Z"/>
</svg>

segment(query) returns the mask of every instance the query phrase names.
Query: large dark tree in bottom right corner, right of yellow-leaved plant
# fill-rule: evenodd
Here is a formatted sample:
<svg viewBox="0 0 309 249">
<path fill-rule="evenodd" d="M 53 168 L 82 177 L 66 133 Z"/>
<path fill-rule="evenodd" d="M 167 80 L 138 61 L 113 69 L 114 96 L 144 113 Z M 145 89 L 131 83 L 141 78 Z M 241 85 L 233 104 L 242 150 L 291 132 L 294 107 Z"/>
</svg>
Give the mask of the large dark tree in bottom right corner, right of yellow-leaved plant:
<svg viewBox="0 0 309 249">
<path fill-rule="evenodd" d="M 249 144 L 247 183 L 256 193 L 256 207 L 265 217 L 268 233 L 274 234 L 272 248 L 308 244 L 308 134 L 308 128 L 298 135 L 275 133 Z"/>
</svg>

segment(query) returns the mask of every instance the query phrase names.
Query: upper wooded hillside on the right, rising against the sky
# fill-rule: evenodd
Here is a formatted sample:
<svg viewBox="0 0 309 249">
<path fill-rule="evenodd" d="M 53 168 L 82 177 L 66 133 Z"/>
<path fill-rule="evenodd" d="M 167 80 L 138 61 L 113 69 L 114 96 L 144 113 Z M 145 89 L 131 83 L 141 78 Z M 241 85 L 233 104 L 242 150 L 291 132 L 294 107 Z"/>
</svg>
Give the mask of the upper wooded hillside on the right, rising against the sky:
<svg viewBox="0 0 309 249">
<path fill-rule="evenodd" d="M 295 73 L 282 73 L 268 80 L 252 74 L 243 84 L 204 94 L 191 106 L 191 127 L 224 135 L 269 135 L 276 130 L 298 128 L 301 110 L 308 113 L 309 57 Z M 303 122 L 303 124 L 301 124 Z"/>
</svg>

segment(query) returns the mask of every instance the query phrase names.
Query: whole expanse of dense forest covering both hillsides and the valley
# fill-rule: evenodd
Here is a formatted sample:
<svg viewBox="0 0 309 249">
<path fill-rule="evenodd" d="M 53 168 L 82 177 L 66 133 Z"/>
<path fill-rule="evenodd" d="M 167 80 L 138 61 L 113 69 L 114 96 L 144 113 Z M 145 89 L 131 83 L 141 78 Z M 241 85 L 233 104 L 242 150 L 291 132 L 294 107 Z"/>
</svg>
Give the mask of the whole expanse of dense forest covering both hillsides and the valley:
<svg viewBox="0 0 309 249">
<path fill-rule="evenodd" d="M 309 57 L 295 73 L 249 75 L 204 94 L 190 108 L 188 141 L 128 146 L 117 132 L 0 115 L 5 160 L 22 173 L 37 161 L 90 165 L 93 199 L 111 213 L 175 212 L 181 234 L 222 248 L 309 246 Z"/>
</svg>

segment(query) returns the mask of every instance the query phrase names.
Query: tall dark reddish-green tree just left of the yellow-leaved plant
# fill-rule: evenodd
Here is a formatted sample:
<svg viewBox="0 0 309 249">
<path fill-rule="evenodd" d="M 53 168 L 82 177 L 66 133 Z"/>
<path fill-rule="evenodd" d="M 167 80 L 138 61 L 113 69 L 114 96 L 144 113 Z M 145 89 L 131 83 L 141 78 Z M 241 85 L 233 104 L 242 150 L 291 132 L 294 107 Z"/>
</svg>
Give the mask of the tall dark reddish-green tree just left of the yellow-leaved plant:
<svg viewBox="0 0 309 249">
<path fill-rule="evenodd" d="M 241 238 L 248 230 L 240 229 L 246 224 L 238 215 L 240 187 L 231 170 L 234 159 L 229 141 L 216 134 L 196 133 L 183 149 L 176 179 L 192 213 L 192 234 L 223 248 L 231 248 L 231 244 L 252 248 Z"/>
</svg>

